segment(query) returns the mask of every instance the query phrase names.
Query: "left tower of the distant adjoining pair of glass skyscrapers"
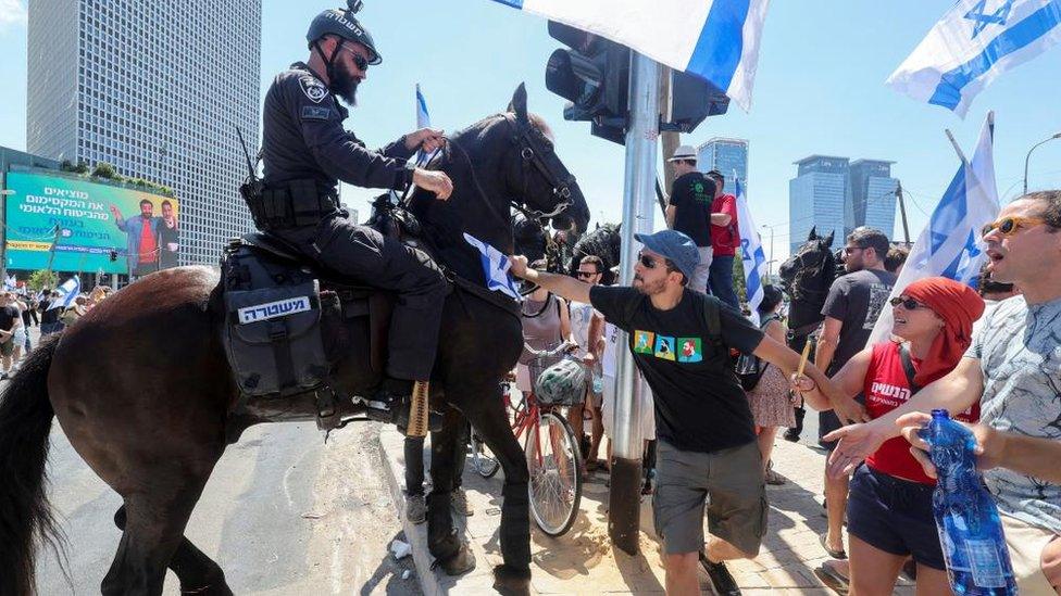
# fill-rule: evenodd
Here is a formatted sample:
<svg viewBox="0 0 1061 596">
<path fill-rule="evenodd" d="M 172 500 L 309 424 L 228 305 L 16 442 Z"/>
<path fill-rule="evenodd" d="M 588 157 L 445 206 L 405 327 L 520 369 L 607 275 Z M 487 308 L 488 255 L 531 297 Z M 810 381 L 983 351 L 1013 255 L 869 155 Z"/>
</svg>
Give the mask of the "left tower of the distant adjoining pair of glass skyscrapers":
<svg viewBox="0 0 1061 596">
<path fill-rule="evenodd" d="M 841 245 L 850 167 L 848 158 L 811 155 L 795 164 L 796 177 L 788 181 L 790 252 L 795 253 L 807 241 L 811 228 L 815 228 L 819 236 L 834 232 L 836 240 L 833 245 Z"/>
</svg>

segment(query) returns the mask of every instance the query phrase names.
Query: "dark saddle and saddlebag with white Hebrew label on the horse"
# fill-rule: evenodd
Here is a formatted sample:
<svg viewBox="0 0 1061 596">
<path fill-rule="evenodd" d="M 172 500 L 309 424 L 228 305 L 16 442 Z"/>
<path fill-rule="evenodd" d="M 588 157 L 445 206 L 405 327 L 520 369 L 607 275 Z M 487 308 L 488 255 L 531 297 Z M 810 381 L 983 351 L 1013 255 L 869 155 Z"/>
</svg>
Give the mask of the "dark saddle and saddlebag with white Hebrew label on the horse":
<svg viewBox="0 0 1061 596">
<path fill-rule="evenodd" d="M 371 389 L 382 380 L 395 296 L 320 267 L 269 233 L 234 239 L 221 262 L 222 341 L 239 401 L 237 427 L 315 420 L 330 430 L 355 414 L 333 371 Z M 239 431 L 242 430 L 239 429 Z"/>
</svg>

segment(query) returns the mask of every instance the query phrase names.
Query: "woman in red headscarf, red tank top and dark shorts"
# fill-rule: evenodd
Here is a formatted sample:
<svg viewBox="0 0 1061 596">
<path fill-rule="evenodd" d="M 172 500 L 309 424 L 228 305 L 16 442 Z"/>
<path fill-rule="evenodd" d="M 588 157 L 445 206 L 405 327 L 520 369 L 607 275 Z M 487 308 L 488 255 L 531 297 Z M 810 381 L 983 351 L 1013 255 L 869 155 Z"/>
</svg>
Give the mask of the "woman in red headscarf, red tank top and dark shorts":
<svg viewBox="0 0 1061 596">
<path fill-rule="evenodd" d="M 866 347 L 833 377 L 847 395 L 865 395 L 871 418 L 950 372 L 972 343 L 973 321 L 984 313 L 972 288 L 941 277 L 911 283 L 891 306 L 898 341 Z M 792 388 L 815 409 L 828 409 L 812 381 L 795 377 Z M 974 422 L 979 408 L 957 418 Z M 890 594 L 908 557 L 918 566 L 919 594 L 950 593 L 932 510 L 935 484 L 901 436 L 885 442 L 854 471 L 847 504 L 852 594 Z"/>
</svg>

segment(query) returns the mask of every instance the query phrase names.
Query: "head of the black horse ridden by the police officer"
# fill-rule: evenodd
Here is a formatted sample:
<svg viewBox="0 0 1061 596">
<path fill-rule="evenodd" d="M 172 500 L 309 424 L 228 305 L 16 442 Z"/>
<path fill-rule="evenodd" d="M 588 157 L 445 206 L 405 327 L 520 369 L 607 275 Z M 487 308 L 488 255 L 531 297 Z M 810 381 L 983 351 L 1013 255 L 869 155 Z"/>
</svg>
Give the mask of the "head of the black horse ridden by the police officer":
<svg viewBox="0 0 1061 596">
<path fill-rule="evenodd" d="M 557 229 L 578 233 L 589 226 L 589 207 L 582 189 L 553 147 L 552 131 L 537 114 L 527 112 L 527 90 L 521 83 L 504 114 L 511 144 L 502 163 L 507 186 L 524 207 L 552 219 Z"/>
</svg>

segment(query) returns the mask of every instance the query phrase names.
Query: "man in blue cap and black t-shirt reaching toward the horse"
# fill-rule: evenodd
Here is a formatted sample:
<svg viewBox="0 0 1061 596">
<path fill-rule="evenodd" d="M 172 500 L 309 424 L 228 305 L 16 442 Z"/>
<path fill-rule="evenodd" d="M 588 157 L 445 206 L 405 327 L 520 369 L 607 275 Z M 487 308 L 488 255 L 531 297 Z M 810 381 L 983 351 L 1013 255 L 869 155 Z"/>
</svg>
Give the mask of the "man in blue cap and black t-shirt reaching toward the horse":
<svg viewBox="0 0 1061 596">
<path fill-rule="evenodd" d="M 697 246 L 674 230 L 637 234 L 645 249 L 634 267 L 634 287 L 589 286 L 527 268 L 511 258 L 512 272 L 569 300 L 587 302 L 625 330 L 634 362 L 656 398 L 656 530 L 663 537 L 667 591 L 694 594 L 703 548 L 703 506 L 711 541 L 708 573 L 719 594 L 736 589 L 724 560 L 754 557 L 766 531 L 762 460 L 729 347 L 753 353 L 786 376 L 799 355 L 774 341 L 736 309 L 686 288 L 699 263 Z M 828 382 L 813 366 L 815 382 Z M 858 406 L 832 384 L 832 403 L 854 419 Z M 616 400 L 629 398 L 617 395 Z"/>
</svg>

